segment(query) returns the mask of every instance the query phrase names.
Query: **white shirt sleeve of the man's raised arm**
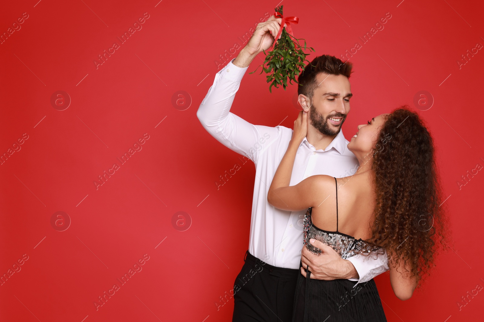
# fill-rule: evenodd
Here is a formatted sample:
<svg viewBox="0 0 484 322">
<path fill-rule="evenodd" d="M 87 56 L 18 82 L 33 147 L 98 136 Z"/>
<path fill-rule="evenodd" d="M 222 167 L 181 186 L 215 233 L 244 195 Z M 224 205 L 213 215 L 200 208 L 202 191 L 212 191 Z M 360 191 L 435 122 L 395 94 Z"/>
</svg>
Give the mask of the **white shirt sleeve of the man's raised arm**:
<svg viewBox="0 0 484 322">
<path fill-rule="evenodd" d="M 242 77 L 248 69 L 235 66 L 232 61 L 215 74 L 212 86 L 198 107 L 197 117 L 216 140 L 257 164 L 259 154 L 278 137 L 280 129 L 253 125 L 230 112 Z"/>
</svg>

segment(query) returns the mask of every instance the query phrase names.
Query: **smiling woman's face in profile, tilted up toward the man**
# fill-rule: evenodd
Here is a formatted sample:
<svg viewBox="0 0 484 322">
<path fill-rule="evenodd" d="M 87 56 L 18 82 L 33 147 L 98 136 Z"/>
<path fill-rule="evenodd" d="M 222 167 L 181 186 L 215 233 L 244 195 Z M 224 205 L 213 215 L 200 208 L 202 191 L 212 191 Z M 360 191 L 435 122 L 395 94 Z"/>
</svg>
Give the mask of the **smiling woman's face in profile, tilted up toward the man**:
<svg viewBox="0 0 484 322">
<path fill-rule="evenodd" d="M 375 147 L 376 141 L 378 140 L 378 135 L 380 133 L 380 128 L 383 126 L 388 114 L 380 114 L 366 124 L 358 126 L 358 131 L 351 138 L 348 143 L 349 151 L 354 154 L 368 154 L 371 153 L 372 148 Z"/>
</svg>

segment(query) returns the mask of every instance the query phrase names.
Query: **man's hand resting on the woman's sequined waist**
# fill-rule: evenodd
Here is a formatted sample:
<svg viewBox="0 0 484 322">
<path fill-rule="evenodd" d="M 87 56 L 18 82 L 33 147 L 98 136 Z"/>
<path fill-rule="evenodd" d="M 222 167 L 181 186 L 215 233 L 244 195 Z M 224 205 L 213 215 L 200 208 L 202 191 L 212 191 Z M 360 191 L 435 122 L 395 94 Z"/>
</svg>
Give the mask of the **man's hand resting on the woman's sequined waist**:
<svg viewBox="0 0 484 322">
<path fill-rule="evenodd" d="M 318 280 L 337 280 L 359 278 L 353 264 L 346 259 L 342 259 L 332 247 L 311 238 L 311 245 L 321 250 L 320 255 L 309 252 L 306 246 L 302 247 L 301 252 L 301 274 L 306 277 L 304 268 L 309 265 L 312 279 Z"/>
</svg>

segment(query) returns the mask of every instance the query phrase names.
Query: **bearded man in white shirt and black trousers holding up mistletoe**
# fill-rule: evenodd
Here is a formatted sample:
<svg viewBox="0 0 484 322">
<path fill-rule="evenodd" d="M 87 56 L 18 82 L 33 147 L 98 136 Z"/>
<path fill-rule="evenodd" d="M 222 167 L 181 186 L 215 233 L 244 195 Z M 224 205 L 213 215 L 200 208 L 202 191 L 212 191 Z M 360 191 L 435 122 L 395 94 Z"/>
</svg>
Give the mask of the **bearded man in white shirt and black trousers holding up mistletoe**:
<svg viewBox="0 0 484 322">
<path fill-rule="evenodd" d="M 217 72 L 197 111 L 202 126 L 231 150 L 250 158 L 256 165 L 249 250 L 234 282 L 233 321 L 290 322 L 299 270 L 311 267 L 311 278 L 371 280 L 388 270 L 386 257 L 363 255 L 343 260 L 334 250 L 316 241 L 323 253 L 302 249 L 302 218 L 305 210 L 285 211 L 272 207 L 267 193 L 273 175 L 292 136 L 284 126 L 253 125 L 229 112 L 242 76 L 252 59 L 267 50 L 280 28 L 281 18 L 273 15 L 257 25 L 239 55 Z M 285 27 L 285 26 L 284 26 Z M 349 112 L 351 64 L 333 56 L 319 56 L 299 76 L 299 102 L 308 112 L 307 136 L 294 162 L 290 185 L 316 174 L 345 177 L 358 168 L 358 161 L 346 147 L 341 125 Z M 261 269 L 261 267 L 263 267 Z M 257 271 L 257 274 L 251 272 Z M 358 284 L 357 283 L 357 284 Z M 357 285 L 356 284 L 356 285 Z M 356 286 L 355 285 L 355 286 Z"/>
</svg>

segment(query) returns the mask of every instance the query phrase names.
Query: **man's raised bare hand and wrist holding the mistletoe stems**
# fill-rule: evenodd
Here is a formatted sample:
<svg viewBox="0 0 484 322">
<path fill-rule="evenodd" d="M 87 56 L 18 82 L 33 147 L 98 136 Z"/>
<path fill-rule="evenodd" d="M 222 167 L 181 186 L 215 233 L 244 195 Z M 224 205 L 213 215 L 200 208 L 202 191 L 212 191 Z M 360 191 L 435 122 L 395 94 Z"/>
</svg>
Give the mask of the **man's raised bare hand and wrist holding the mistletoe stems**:
<svg viewBox="0 0 484 322">
<path fill-rule="evenodd" d="M 249 42 L 242 48 L 239 55 L 235 58 L 233 64 L 237 67 L 245 68 L 250 65 L 252 59 L 254 59 L 262 50 L 267 50 L 274 42 L 275 36 L 281 28 L 282 18 L 276 18 L 272 15 L 267 21 L 257 24 L 256 31 Z M 284 24 L 286 27 L 286 24 Z M 282 33 L 281 33 L 282 36 Z M 281 38 L 279 36 L 279 39 Z"/>
</svg>

